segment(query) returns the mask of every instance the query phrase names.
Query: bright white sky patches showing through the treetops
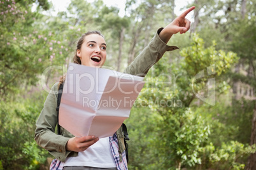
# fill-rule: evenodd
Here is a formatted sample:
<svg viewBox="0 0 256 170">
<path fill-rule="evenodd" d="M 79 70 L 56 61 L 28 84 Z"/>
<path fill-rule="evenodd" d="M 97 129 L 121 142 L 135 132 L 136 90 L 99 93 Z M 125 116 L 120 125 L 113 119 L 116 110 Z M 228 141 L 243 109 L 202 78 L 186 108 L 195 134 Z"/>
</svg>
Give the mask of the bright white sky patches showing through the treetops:
<svg viewBox="0 0 256 170">
<path fill-rule="evenodd" d="M 53 3 L 53 6 L 55 8 L 56 13 L 58 11 L 65 11 L 66 8 L 68 7 L 69 3 L 71 2 L 71 0 L 49 0 Z M 93 2 L 94 0 L 87 0 L 89 2 Z M 125 1 L 126 0 L 118 0 L 118 1 L 113 1 L 113 0 L 103 0 L 103 2 L 107 5 L 107 6 L 115 6 L 117 8 L 120 9 L 119 15 L 120 16 L 124 16 L 124 8 L 125 8 Z M 180 15 L 182 11 L 180 11 L 181 8 L 183 8 L 184 6 L 187 6 L 188 3 L 191 3 L 192 0 L 178 0 L 175 1 L 175 5 L 176 8 L 174 10 L 174 13 L 176 13 L 176 15 Z M 190 13 L 187 15 L 188 20 L 193 21 L 192 20 L 192 15 L 193 13 Z"/>
</svg>

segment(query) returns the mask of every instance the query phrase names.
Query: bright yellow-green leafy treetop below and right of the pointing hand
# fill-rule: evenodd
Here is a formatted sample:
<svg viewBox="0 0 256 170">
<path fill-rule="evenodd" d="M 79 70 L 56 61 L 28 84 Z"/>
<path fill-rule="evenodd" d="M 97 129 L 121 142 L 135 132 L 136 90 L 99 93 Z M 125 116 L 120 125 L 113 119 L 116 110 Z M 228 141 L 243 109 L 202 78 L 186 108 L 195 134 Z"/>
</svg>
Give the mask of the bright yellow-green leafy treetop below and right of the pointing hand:
<svg viewBox="0 0 256 170">
<path fill-rule="evenodd" d="M 187 107 L 197 94 L 206 96 L 210 93 L 210 88 L 215 88 L 213 89 L 214 91 L 222 91 L 225 86 L 227 86 L 225 81 L 221 80 L 217 82 L 218 84 L 213 82 L 213 84 L 211 84 L 213 87 L 208 85 L 208 91 L 204 89 L 208 83 L 208 79 L 214 78 L 216 80 L 217 77 L 226 73 L 231 68 L 231 65 L 234 65 L 238 60 L 236 54 L 231 51 L 228 53 L 222 50 L 217 51 L 215 44 L 216 42 L 213 42 L 212 46 L 204 48 L 203 39 L 195 35 L 192 45 L 188 48 L 184 48 L 180 52 L 181 56 L 185 58 L 184 61 L 180 63 L 180 70 L 174 68 L 174 73 L 179 74 L 181 72 L 182 74 L 182 77 L 177 79 L 176 84 L 181 89 L 180 98 Z M 200 74 L 203 74 L 203 77 L 197 77 L 197 75 Z M 210 100 L 215 100 L 215 98 L 210 98 Z M 205 102 L 208 103 L 208 101 Z"/>
</svg>

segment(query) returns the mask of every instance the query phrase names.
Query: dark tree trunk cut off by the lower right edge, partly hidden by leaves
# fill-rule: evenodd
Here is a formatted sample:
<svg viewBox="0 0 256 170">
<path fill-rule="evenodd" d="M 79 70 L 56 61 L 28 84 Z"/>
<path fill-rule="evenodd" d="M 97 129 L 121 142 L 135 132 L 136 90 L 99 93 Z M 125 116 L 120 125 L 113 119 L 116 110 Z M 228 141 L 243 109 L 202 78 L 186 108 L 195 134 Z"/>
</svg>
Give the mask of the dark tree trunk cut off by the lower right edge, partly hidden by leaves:
<svg viewBox="0 0 256 170">
<path fill-rule="evenodd" d="M 251 134 L 250 144 L 253 145 L 255 143 L 256 143 L 256 105 L 254 106 L 254 110 L 253 110 L 252 134 Z M 250 155 L 245 169 L 246 170 L 256 169 L 256 153 Z"/>
</svg>

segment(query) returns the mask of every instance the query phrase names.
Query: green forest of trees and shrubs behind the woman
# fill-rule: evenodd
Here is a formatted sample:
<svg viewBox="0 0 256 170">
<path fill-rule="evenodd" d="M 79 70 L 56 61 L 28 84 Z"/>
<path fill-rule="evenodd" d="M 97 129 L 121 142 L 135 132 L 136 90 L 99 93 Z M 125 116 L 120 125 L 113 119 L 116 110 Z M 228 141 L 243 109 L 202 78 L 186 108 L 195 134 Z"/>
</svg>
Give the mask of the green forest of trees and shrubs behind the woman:
<svg viewBox="0 0 256 170">
<path fill-rule="evenodd" d="M 35 122 L 78 37 L 101 30 L 105 65 L 122 72 L 176 17 L 176 2 L 127 0 L 119 16 L 101 0 L 72 0 L 52 16 L 47 0 L 1 0 L 0 169 L 48 169 Z M 146 75 L 125 121 L 129 169 L 256 169 L 256 1 L 194 0 L 183 10 L 192 5 L 190 31 L 169 42 L 180 49 Z"/>
</svg>

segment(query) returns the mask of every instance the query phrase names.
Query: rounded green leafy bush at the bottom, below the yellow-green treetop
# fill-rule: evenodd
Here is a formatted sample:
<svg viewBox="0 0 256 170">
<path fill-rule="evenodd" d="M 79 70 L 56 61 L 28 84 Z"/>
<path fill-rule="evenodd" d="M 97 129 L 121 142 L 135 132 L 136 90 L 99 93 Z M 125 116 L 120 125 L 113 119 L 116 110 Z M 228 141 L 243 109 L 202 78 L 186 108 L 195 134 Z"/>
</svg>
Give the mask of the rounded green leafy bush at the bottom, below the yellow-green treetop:
<svg viewBox="0 0 256 170">
<path fill-rule="evenodd" d="M 160 124 L 159 124 L 160 126 Z M 190 167 L 201 164 L 200 150 L 210 135 L 210 126 L 191 110 L 176 113 L 162 122 L 159 140 L 159 157 L 163 157 L 165 169 L 185 164 Z"/>
</svg>

